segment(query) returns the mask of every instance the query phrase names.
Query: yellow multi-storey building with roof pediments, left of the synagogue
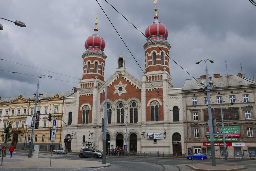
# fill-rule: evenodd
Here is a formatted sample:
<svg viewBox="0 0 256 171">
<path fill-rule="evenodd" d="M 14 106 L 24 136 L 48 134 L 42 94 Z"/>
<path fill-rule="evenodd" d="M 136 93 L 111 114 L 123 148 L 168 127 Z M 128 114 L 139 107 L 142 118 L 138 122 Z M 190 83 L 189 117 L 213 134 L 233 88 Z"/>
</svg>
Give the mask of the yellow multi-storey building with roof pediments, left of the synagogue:
<svg viewBox="0 0 256 171">
<path fill-rule="evenodd" d="M 63 106 L 65 97 L 71 94 L 72 92 L 68 91 L 38 97 L 37 111 L 40 111 L 40 118 L 38 129 L 34 131 L 33 145 L 39 145 L 41 151 L 50 151 L 61 146 L 62 124 L 65 125 L 61 121 Z M 28 116 L 33 120 L 34 108 L 34 96 L 0 98 L 0 134 L 8 123 L 11 123 L 11 141 L 6 144 L 7 147 L 12 144 L 16 149 L 28 149 L 32 127 L 27 126 L 26 120 Z M 56 120 L 56 140 L 53 144 L 49 140 L 49 128 L 52 128 L 52 121 L 48 121 L 49 113 L 52 114 L 52 120 Z M 0 144 L 4 145 L 4 136 L 1 137 Z"/>
</svg>

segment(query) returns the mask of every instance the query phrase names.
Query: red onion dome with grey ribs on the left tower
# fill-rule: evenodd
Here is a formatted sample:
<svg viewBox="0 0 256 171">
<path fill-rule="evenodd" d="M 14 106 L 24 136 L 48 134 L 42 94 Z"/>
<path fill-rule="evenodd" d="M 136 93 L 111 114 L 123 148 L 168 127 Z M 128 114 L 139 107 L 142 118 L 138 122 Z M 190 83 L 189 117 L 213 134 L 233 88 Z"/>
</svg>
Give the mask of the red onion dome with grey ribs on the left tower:
<svg viewBox="0 0 256 171">
<path fill-rule="evenodd" d="M 86 51 L 95 50 L 95 51 L 104 51 L 105 41 L 100 37 L 100 35 L 96 34 L 98 29 L 94 29 L 95 34 L 90 35 L 84 43 L 84 47 Z"/>
</svg>

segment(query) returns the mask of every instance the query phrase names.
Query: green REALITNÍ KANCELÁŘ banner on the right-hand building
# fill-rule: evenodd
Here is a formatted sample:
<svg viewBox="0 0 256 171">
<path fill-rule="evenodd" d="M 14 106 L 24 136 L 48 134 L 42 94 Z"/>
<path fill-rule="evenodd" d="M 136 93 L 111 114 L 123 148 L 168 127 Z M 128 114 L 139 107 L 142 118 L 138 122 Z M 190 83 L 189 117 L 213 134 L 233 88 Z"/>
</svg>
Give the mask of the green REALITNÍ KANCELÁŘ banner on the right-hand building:
<svg viewBox="0 0 256 171">
<path fill-rule="evenodd" d="M 240 127 L 239 126 L 233 126 L 233 127 L 224 127 L 225 131 L 225 137 L 226 138 L 232 138 L 232 137 L 241 137 L 240 134 Z M 205 128 L 205 137 L 210 137 L 209 128 Z M 217 133 L 213 134 L 214 138 L 223 138 L 223 130 L 222 127 L 217 127 Z"/>
</svg>

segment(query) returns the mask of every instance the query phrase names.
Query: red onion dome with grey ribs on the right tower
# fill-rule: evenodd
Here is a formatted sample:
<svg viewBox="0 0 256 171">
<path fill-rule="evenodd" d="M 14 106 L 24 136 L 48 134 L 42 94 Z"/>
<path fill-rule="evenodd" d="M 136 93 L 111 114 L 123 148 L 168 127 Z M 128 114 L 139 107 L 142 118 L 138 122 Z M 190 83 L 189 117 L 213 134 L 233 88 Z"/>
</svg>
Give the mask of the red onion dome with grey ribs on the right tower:
<svg viewBox="0 0 256 171">
<path fill-rule="evenodd" d="M 148 39 L 162 39 L 166 40 L 168 37 L 168 31 L 165 28 L 165 26 L 160 23 L 157 18 L 158 16 L 155 16 L 155 21 L 148 26 L 148 28 L 145 31 L 145 35 Z"/>
</svg>

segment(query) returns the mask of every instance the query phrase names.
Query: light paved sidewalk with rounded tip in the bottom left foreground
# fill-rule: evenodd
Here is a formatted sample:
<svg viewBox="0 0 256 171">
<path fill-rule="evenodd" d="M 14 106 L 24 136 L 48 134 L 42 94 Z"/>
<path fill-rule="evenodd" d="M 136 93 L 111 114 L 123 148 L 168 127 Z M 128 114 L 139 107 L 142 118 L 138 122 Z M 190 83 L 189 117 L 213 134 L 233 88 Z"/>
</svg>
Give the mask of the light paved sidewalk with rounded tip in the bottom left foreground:
<svg viewBox="0 0 256 171">
<path fill-rule="evenodd" d="M 51 167 L 49 166 L 49 158 L 6 157 L 5 161 L 3 160 L 3 166 L 0 166 L 0 168 L 85 168 L 107 167 L 110 166 L 110 164 L 102 164 L 102 162 L 99 161 L 88 160 L 52 159 Z"/>
</svg>

